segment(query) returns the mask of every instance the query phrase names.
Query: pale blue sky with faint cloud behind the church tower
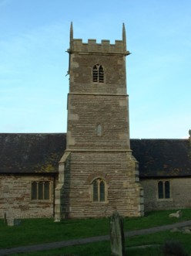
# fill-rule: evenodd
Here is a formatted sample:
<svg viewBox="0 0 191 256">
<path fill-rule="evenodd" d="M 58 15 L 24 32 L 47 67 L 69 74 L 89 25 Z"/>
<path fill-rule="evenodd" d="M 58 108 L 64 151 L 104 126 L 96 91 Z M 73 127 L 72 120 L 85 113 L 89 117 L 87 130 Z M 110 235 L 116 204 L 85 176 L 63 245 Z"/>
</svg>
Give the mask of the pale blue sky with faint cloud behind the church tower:
<svg viewBox="0 0 191 256">
<path fill-rule="evenodd" d="M 65 132 L 69 26 L 122 39 L 131 138 L 188 138 L 190 0 L 0 0 L 0 132 Z"/>
</svg>

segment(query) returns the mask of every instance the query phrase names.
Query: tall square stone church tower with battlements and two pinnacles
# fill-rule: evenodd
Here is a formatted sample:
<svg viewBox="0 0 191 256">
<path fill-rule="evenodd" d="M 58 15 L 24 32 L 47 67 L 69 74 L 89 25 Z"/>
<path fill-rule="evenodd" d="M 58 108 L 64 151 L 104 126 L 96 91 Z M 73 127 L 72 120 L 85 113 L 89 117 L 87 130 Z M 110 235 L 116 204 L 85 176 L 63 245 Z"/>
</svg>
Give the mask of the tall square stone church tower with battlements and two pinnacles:
<svg viewBox="0 0 191 256">
<path fill-rule="evenodd" d="M 70 28 L 67 146 L 59 162 L 55 220 L 143 214 L 129 143 L 126 30 L 122 40 L 73 39 Z"/>
</svg>

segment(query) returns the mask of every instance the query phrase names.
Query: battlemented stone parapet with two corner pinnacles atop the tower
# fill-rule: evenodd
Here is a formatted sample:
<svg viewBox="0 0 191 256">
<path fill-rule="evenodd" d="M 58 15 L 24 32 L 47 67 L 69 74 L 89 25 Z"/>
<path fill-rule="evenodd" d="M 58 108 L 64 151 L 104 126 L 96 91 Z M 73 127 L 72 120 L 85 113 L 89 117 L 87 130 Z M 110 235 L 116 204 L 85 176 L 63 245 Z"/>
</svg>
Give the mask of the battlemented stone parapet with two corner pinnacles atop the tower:
<svg viewBox="0 0 191 256">
<path fill-rule="evenodd" d="M 82 39 L 73 39 L 73 27 L 70 28 L 70 48 L 69 53 L 109 53 L 129 55 L 126 51 L 126 30 L 122 26 L 122 40 L 116 40 L 111 44 L 109 40 L 102 40 L 101 43 L 96 43 L 96 39 L 88 39 L 88 43 L 83 43 Z"/>
</svg>

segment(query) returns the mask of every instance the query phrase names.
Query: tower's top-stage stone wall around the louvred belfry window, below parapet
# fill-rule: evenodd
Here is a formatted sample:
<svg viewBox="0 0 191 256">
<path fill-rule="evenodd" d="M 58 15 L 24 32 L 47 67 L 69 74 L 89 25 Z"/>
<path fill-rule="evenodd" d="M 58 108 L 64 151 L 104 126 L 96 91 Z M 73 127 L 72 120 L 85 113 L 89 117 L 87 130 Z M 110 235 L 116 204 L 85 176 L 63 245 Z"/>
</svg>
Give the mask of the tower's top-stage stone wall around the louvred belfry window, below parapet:
<svg viewBox="0 0 191 256">
<path fill-rule="evenodd" d="M 121 55 L 71 55 L 69 93 L 126 94 L 125 56 Z M 95 64 L 104 69 L 104 83 L 92 82 Z"/>
</svg>

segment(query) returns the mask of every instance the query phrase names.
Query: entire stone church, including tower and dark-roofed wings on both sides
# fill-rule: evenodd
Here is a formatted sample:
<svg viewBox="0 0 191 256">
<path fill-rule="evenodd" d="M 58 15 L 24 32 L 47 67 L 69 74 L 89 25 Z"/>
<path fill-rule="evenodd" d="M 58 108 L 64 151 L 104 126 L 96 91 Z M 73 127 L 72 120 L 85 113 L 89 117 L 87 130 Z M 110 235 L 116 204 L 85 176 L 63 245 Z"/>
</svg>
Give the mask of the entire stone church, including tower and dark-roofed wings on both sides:
<svg viewBox="0 0 191 256">
<path fill-rule="evenodd" d="M 0 134 L 0 217 L 140 217 L 191 207 L 188 139 L 130 139 L 122 39 L 69 42 L 67 133 Z"/>
</svg>

